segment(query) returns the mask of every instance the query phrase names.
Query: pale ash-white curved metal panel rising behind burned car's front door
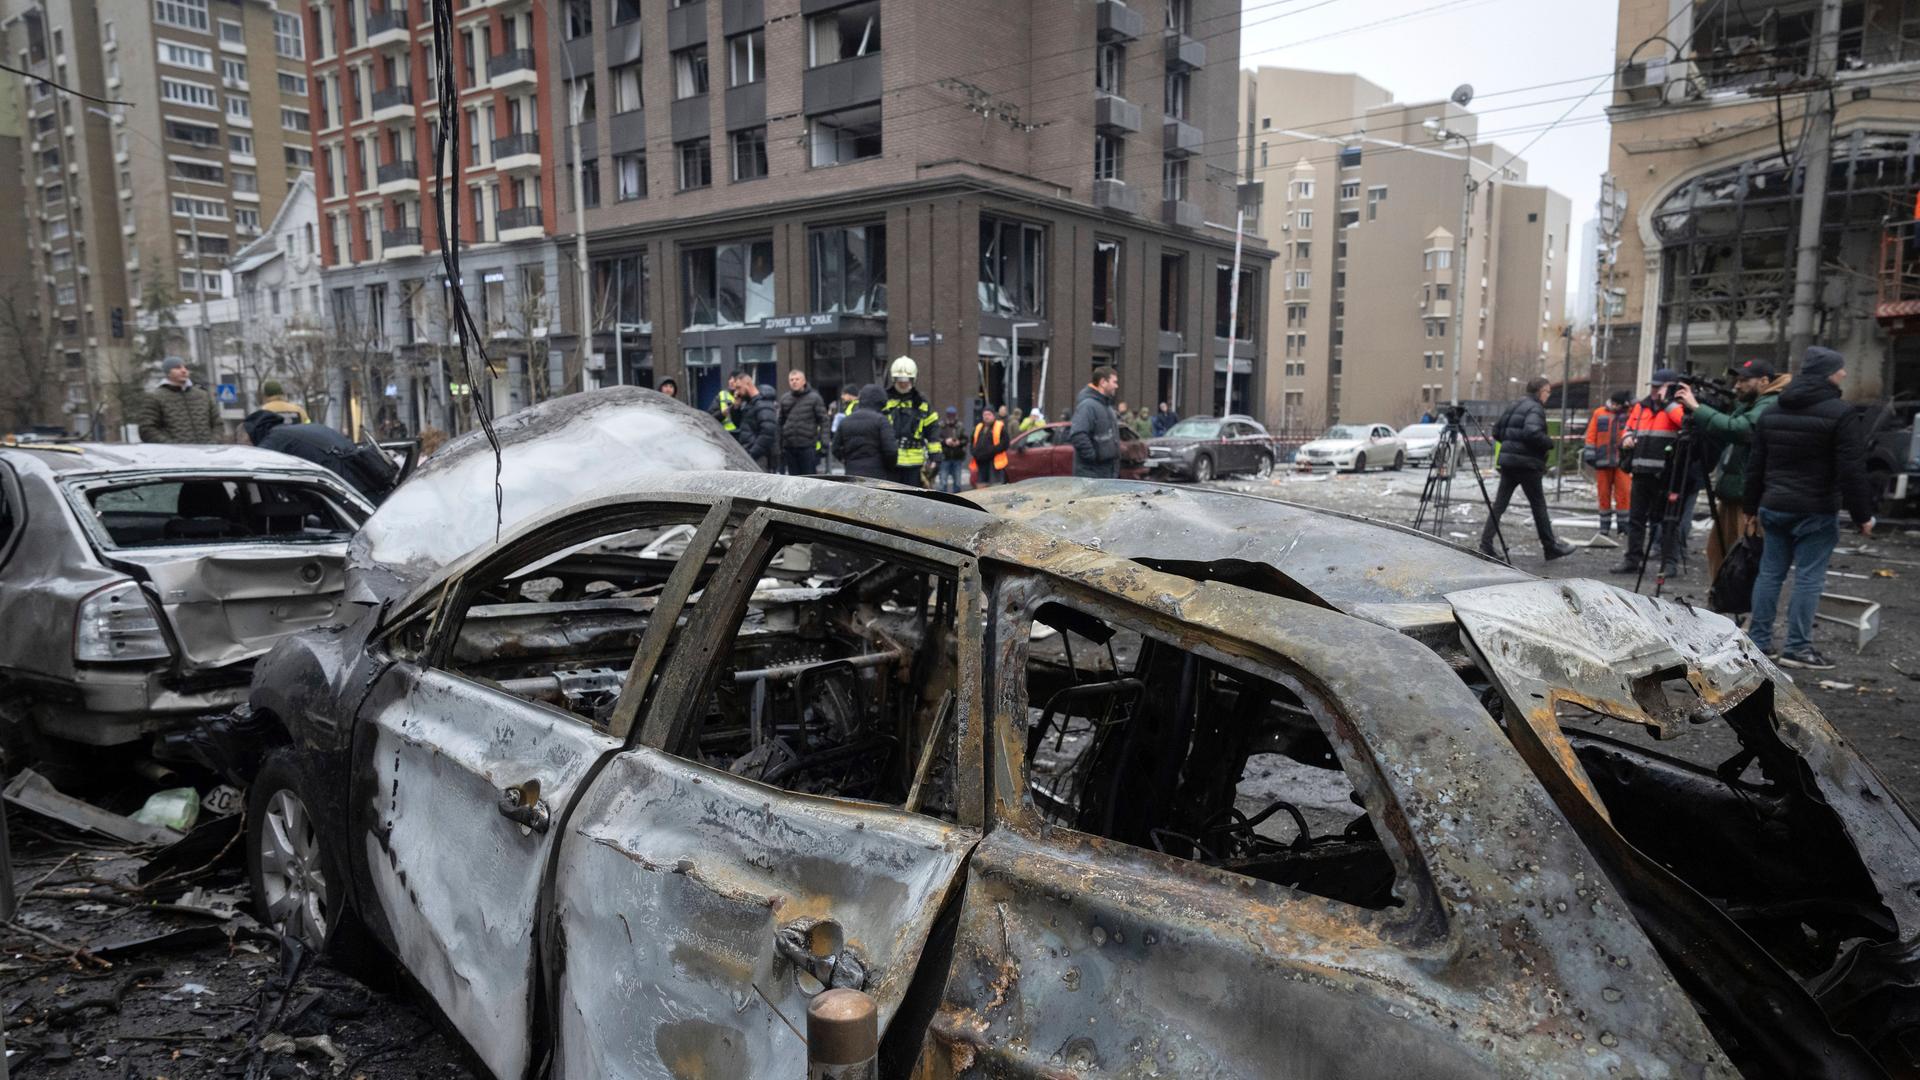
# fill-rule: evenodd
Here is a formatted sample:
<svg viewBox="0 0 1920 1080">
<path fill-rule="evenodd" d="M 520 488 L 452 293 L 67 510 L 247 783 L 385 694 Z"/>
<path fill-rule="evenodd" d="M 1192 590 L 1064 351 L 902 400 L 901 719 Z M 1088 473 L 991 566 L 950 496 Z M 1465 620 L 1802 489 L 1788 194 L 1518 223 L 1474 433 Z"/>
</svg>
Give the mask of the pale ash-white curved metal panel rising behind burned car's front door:
<svg viewBox="0 0 1920 1080">
<path fill-rule="evenodd" d="M 493 432 L 499 486 L 486 432 L 444 446 L 353 536 L 348 600 L 399 598 L 516 523 L 639 473 L 760 471 L 712 417 L 637 386 L 553 398 Z"/>
</svg>

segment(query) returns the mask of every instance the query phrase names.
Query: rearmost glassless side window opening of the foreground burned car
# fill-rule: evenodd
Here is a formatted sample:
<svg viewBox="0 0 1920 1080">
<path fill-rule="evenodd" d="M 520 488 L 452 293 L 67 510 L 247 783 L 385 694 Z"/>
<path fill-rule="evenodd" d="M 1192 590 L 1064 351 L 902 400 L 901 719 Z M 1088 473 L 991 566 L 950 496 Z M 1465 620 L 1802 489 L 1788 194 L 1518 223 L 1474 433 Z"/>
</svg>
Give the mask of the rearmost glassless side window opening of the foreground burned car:
<svg viewBox="0 0 1920 1080">
<path fill-rule="evenodd" d="M 1027 650 L 1029 794 L 1046 821 L 1356 907 L 1394 863 L 1288 688 L 1062 603 Z"/>
</svg>

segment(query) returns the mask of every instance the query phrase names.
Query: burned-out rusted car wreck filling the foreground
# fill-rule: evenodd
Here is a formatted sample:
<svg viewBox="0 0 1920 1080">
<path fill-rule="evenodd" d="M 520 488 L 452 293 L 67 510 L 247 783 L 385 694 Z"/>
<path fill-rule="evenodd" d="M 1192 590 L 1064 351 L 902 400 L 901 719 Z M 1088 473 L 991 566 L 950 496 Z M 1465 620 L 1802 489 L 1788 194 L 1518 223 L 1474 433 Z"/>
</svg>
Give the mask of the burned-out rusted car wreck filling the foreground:
<svg viewBox="0 0 1920 1080">
<path fill-rule="evenodd" d="M 1914 1072 L 1920 828 L 1728 621 L 624 394 L 674 461 L 540 498 L 522 413 L 459 550 L 436 457 L 250 701 L 265 915 L 493 1076 L 799 1074 L 829 986 L 889 1076 Z"/>
</svg>

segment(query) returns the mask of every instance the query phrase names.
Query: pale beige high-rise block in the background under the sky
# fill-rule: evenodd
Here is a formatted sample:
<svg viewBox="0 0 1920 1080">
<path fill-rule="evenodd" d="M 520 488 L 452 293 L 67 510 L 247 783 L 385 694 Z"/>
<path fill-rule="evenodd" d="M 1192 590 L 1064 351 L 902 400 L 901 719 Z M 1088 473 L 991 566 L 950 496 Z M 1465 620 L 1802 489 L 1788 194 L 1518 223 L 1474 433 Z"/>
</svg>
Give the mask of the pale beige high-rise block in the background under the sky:
<svg viewBox="0 0 1920 1080">
<path fill-rule="evenodd" d="M 1526 163 L 1482 142 L 1453 102 L 1396 104 L 1344 73 L 1260 67 L 1244 79 L 1263 233 L 1277 252 L 1269 413 L 1308 429 L 1411 423 L 1452 396 L 1455 317 L 1467 321 L 1461 400 L 1509 398 L 1515 380 L 1559 371 L 1548 354 L 1572 261 L 1565 196 L 1528 184 Z M 1476 190 L 1461 248 L 1469 169 Z"/>
</svg>

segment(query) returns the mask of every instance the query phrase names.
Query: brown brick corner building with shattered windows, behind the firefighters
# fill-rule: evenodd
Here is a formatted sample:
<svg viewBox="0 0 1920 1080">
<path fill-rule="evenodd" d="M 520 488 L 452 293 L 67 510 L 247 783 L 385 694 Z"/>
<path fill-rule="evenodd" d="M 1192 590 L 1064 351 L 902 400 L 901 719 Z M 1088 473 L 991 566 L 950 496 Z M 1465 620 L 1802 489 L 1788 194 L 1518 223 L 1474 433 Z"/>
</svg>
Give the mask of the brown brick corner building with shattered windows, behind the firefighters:
<svg viewBox="0 0 1920 1080">
<path fill-rule="evenodd" d="M 833 394 L 910 356 L 941 405 L 1064 415 L 1114 363 L 1129 402 L 1208 413 L 1233 336 L 1260 400 L 1258 238 L 1227 315 L 1233 0 L 570 0 L 549 33 L 589 379 L 705 404 L 733 367 Z"/>
</svg>

